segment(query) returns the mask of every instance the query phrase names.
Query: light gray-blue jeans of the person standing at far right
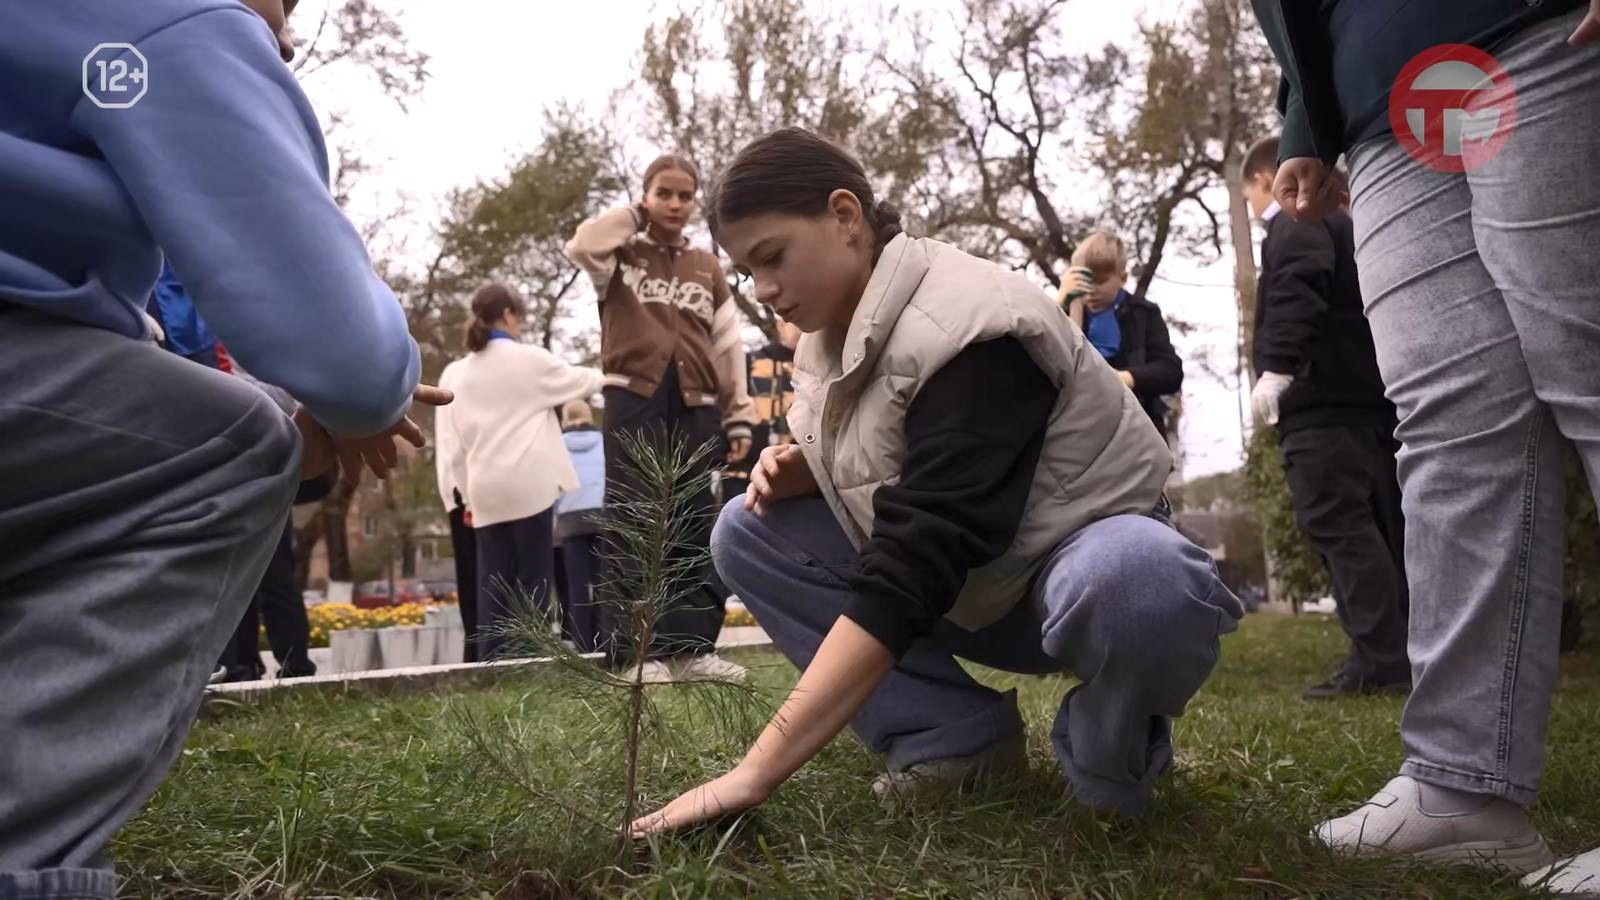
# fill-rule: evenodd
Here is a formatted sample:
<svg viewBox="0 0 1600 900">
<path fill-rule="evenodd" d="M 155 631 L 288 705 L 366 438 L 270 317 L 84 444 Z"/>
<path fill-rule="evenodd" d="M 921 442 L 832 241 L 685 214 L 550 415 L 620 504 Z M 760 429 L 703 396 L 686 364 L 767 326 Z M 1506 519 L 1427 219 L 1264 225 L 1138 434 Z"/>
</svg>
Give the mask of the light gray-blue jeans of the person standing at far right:
<svg viewBox="0 0 1600 900">
<path fill-rule="evenodd" d="M 1387 136 L 1350 154 L 1362 296 L 1400 412 L 1402 773 L 1525 806 L 1557 682 L 1565 440 L 1600 488 L 1600 45 L 1566 45 L 1582 14 L 1496 51 L 1518 117 L 1491 162 L 1438 173 Z"/>
</svg>

